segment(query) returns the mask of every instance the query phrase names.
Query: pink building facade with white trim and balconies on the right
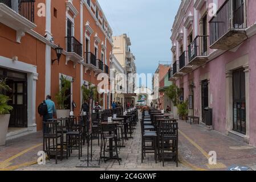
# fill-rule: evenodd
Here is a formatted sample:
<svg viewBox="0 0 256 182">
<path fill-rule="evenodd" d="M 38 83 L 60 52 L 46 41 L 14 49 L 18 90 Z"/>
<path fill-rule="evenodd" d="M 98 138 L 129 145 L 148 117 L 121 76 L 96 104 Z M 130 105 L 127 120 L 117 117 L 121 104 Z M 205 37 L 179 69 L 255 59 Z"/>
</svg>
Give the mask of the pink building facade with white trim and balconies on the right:
<svg viewBox="0 0 256 182">
<path fill-rule="evenodd" d="M 170 38 L 173 45 L 170 80 L 184 90 L 184 100 L 193 94 L 189 115 L 194 113 L 205 125 L 204 108 L 210 107 L 212 129 L 253 146 L 256 146 L 255 9 L 254 0 L 182 0 Z"/>
</svg>

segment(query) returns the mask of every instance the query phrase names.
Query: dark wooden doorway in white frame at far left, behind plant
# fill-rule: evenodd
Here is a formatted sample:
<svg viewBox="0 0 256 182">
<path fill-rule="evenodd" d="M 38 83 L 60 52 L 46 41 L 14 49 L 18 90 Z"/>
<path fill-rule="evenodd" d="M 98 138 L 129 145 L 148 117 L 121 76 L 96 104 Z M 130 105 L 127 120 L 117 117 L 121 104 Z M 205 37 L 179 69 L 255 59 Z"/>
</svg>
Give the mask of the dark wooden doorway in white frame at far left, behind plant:
<svg viewBox="0 0 256 182">
<path fill-rule="evenodd" d="M 5 79 L 11 91 L 5 92 L 10 98 L 9 127 L 27 127 L 27 74 L 0 68 L 0 79 Z"/>
</svg>

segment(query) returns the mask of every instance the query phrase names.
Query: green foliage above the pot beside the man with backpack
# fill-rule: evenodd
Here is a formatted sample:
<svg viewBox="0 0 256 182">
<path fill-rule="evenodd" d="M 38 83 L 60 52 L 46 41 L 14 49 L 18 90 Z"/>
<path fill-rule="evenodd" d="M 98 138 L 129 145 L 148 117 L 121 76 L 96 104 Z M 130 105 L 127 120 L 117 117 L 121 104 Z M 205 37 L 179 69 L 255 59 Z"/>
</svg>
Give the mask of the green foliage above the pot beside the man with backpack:
<svg viewBox="0 0 256 182">
<path fill-rule="evenodd" d="M 67 80 L 66 77 L 60 77 L 60 90 L 56 94 L 55 99 L 57 101 L 58 109 L 68 109 L 68 105 L 65 105 L 65 101 L 67 101 L 70 94 L 68 94 L 68 90 L 71 88 L 71 82 Z"/>
</svg>

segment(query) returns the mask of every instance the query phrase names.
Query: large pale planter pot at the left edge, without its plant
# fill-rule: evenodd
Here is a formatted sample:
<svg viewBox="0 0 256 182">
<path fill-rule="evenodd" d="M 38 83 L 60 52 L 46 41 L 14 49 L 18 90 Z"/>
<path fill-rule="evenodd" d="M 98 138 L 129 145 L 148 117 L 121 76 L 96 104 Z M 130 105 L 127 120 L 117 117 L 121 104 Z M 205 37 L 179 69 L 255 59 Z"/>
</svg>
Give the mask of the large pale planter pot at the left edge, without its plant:
<svg viewBox="0 0 256 182">
<path fill-rule="evenodd" d="M 9 121 L 10 114 L 0 114 L 0 146 L 5 145 Z"/>
</svg>

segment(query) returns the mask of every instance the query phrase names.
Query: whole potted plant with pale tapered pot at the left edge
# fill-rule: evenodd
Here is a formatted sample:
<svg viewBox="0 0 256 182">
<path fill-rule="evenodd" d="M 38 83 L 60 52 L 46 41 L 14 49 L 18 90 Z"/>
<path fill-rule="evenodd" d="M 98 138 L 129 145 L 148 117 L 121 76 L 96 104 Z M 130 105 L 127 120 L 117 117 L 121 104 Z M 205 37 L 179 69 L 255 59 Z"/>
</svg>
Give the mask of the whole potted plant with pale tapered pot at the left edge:
<svg viewBox="0 0 256 182">
<path fill-rule="evenodd" d="M 0 80 L 0 146 L 5 145 L 6 134 L 10 121 L 10 111 L 13 110 L 12 106 L 8 105 L 10 100 L 8 96 L 5 96 L 4 92 L 10 91 L 10 87 L 6 85 L 6 79 Z"/>
</svg>

